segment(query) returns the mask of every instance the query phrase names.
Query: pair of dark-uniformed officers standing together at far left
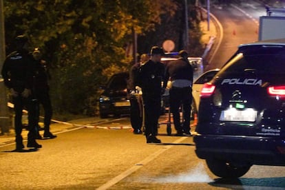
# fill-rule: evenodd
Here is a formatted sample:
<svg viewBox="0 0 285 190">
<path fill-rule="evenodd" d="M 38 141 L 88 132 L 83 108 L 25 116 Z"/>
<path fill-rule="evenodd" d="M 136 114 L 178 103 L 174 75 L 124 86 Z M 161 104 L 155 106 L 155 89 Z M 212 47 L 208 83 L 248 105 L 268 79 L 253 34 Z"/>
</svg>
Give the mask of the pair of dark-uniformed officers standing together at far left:
<svg viewBox="0 0 285 190">
<path fill-rule="evenodd" d="M 39 105 L 43 105 L 44 138 L 56 138 L 50 132 L 52 118 L 52 104 L 50 102 L 48 74 L 45 61 L 41 59 L 39 49 L 29 52 L 28 37 L 17 36 L 15 39 L 16 50 L 6 57 L 1 70 L 6 87 L 10 89 L 14 103 L 14 129 L 16 134 L 16 151 L 22 151 L 23 137 L 21 132 L 23 109 L 28 111 L 28 143 L 27 147 L 38 149 L 42 146 L 36 142 L 41 139 L 39 134 Z"/>
</svg>

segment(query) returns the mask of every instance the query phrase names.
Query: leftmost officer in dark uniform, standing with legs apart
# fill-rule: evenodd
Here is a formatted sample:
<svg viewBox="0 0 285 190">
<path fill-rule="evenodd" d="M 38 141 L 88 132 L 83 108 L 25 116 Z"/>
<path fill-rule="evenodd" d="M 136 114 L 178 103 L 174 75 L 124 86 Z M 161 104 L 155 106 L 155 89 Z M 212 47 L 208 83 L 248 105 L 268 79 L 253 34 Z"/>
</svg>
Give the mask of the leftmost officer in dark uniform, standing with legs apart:
<svg viewBox="0 0 285 190">
<path fill-rule="evenodd" d="M 22 111 L 28 109 L 28 144 L 27 147 L 41 148 L 36 138 L 36 99 L 32 92 L 33 58 L 28 54 L 28 38 L 17 36 L 17 50 L 7 56 L 1 74 L 5 85 L 10 88 L 14 103 L 14 127 L 16 133 L 16 150 L 24 148 L 22 132 Z"/>
</svg>

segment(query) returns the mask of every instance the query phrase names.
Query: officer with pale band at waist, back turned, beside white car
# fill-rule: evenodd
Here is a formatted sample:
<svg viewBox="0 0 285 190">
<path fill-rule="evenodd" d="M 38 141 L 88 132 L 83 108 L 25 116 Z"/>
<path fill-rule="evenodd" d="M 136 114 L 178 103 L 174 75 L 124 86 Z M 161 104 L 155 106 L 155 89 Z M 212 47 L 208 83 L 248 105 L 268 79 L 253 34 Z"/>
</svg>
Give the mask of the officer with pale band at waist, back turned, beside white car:
<svg viewBox="0 0 285 190">
<path fill-rule="evenodd" d="M 193 68 L 188 61 L 188 53 L 185 50 L 179 52 L 180 58 L 176 61 L 171 61 L 166 66 L 165 82 L 171 80 L 171 88 L 169 89 L 169 105 L 173 114 L 173 123 L 176 128 L 177 135 L 183 133 L 191 135 L 190 132 L 190 114 L 192 103 L 192 83 L 193 83 Z M 179 107 L 183 107 L 183 122 L 180 123 Z"/>
</svg>

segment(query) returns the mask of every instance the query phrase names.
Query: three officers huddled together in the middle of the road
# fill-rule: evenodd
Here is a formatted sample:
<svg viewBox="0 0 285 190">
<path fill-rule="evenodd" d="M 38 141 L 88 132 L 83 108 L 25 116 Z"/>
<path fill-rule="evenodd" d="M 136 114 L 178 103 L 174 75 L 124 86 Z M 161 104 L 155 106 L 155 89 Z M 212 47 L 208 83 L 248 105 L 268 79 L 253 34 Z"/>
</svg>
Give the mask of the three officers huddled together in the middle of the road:
<svg viewBox="0 0 285 190">
<path fill-rule="evenodd" d="M 161 47 L 151 47 L 150 56 L 142 54 L 140 63 L 131 67 L 129 78 L 129 94 L 131 102 L 131 126 L 134 134 L 142 134 L 142 112 L 144 106 L 144 125 L 147 143 L 160 143 L 158 135 L 158 119 L 161 113 L 161 98 L 165 88 L 169 88 L 169 106 L 173 114 L 173 123 L 177 136 L 191 135 L 191 103 L 193 68 L 188 61 L 185 50 L 179 52 L 179 58 L 164 65 L 160 63 L 164 55 Z M 170 85 L 167 86 L 170 81 Z M 163 85 L 162 85 L 163 83 Z M 142 99 L 137 94 L 141 88 Z M 143 103 L 142 103 L 143 102 Z M 183 118 L 180 121 L 180 107 L 183 107 Z"/>
</svg>

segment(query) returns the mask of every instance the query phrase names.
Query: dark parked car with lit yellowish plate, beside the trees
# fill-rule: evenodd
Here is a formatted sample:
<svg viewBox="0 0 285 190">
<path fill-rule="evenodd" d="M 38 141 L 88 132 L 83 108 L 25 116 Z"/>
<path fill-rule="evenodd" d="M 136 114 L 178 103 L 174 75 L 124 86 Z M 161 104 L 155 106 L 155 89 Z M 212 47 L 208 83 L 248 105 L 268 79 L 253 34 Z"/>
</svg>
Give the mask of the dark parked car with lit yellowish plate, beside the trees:
<svg viewBox="0 0 285 190">
<path fill-rule="evenodd" d="M 104 92 L 99 98 L 99 112 L 101 118 L 109 115 L 120 116 L 129 114 L 130 103 L 127 98 L 128 72 L 114 74 L 107 85 L 103 87 Z"/>
</svg>

